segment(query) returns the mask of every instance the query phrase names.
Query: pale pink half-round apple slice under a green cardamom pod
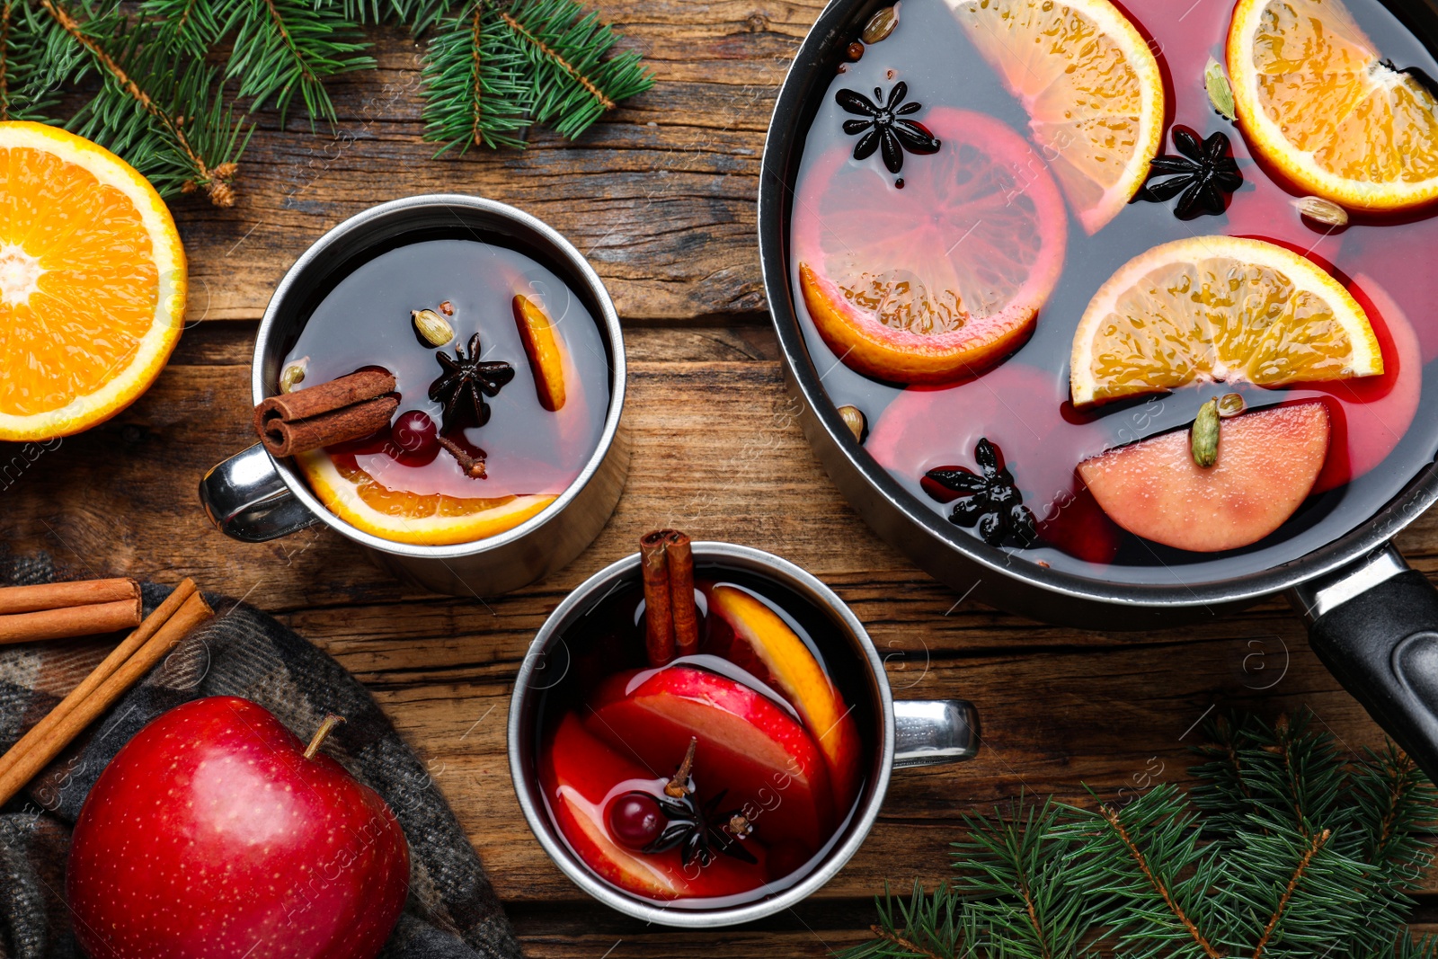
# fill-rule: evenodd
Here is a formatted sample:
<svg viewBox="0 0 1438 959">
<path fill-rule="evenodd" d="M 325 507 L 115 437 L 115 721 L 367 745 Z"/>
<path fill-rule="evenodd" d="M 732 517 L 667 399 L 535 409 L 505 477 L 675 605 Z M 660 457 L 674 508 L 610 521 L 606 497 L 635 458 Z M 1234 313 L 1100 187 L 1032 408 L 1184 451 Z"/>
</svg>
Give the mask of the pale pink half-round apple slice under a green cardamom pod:
<svg viewBox="0 0 1438 959">
<path fill-rule="evenodd" d="M 1188 430 L 1178 430 L 1087 459 L 1078 474 L 1130 533 L 1194 552 L 1237 549 L 1307 499 L 1329 433 L 1327 407 L 1300 403 L 1224 420 L 1208 469 L 1194 463 Z"/>
</svg>

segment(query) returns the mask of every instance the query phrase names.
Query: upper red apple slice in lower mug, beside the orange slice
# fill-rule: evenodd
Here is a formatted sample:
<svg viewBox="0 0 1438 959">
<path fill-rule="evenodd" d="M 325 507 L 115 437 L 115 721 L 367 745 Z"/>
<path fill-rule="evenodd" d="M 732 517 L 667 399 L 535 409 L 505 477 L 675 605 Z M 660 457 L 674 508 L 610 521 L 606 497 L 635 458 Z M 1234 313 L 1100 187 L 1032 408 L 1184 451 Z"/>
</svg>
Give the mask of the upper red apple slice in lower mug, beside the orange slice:
<svg viewBox="0 0 1438 959">
<path fill-rule="evenodd" d="M 637 687 L 630 690 L 630 684 Z M 585 728 L 647 775 L 673 775 L 699 738 L 695 785 L 709 801 L 743 809 L 761 840 L 795 838 L 817 850 L 834 825 L 824 755 L 788 712 L 726 676 L 670 666 L 647 679 L 617 673 L 591 700 Z"/>
</svg>

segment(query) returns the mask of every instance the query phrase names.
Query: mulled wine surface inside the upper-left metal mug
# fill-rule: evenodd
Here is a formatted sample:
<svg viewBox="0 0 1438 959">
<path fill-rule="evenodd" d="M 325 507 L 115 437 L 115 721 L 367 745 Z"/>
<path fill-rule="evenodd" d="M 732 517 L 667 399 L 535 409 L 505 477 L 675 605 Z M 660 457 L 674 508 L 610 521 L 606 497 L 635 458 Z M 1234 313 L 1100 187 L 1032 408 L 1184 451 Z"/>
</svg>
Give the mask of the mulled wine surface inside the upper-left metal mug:
<svg viewBox="0 0 1438 959">
<path fill-rule="evenodd" d="M 539 405 L 535 377 L 525 357 L 513 315 L 522 293 L 539 303 L 555 322 L 565 355 L 564 407 Z M 411 311 L 449 302 L 454 342 L 437 348 L 417 338 Z M 367 365 L 394 374 L 400 393 L 398 418 L 410 410 L 440 424 L 441 405 L 429 397 L 441 374 L 434 354 L 454 355 L 472 334 L 482 358 L 505 361 L 513 380 L 486 398 L 490 418 L 463 430 L 470 447 L 487 454 L 486 479 L 464 474 L 457 460 L 441 451 L 424 466 L 406 466 L 384 450 L 384 439 L 331 450 L 380 479 L 384 486 L 417 495 L 500 497 L 564 492 L 578 477 L 604 428 L 610 403 L 610 361 L 600 328 L 584 302 L 546 266 L 516 250 L 477 240 L 424 240 L 381 253 L 365 262 L 324 298 L 305 324 L 285 365 L 308 358 L 308 387 Z"/>
</svg>

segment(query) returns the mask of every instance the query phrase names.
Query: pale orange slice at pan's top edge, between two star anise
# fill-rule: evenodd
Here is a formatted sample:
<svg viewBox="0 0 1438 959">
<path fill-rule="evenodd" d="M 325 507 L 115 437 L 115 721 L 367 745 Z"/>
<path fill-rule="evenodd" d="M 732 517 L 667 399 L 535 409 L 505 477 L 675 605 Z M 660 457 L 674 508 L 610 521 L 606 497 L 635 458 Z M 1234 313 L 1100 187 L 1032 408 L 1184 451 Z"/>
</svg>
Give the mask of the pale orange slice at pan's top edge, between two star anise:
<svg viewBox="0 0 1438 959">
<path fill-rule="evenodd" d="M 1028 112 L 1058 185 L 1093 234 L 1119 216 L 1163 145 L 1163 76 L 1109 0 L 949 0 Z"/>
</svg>

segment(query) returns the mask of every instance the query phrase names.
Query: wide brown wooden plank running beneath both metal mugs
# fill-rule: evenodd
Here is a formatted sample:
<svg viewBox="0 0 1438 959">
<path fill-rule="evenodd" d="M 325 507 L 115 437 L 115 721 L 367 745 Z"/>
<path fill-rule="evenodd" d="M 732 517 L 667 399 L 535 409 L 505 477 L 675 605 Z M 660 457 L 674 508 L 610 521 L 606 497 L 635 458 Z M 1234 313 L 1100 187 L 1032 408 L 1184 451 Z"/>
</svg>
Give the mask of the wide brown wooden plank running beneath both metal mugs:
<svg viewBox="0 0 1438 959">
<path fill-rule="evenodd" d="M 771 549 L 815 571 L 869 624 L 897 696 L 962 696 L 982 710 L 984 755 L 896 775 L 870 841 L 818 903 L 861 901 L 886 878 L 943 877 L 959 815 L 1021 791 L 1090 801 L 1086 784 L 1122 801 L 1153 782 L 1186 782 L 1192 726 L 1209 707 L 1271 716 L 1307 705 L 1347 746 L 1379 740 L 1281 601 L 1133 635 L 955 605 L 955 592 L 880 543 L 833 490 L 792 421 L 772 334 L 759 324 L 627 331 L 636 439 L 628 489 L 597 543 L 548 582 L 482 604 L 391 582 L 329 533 L 230 542 L 200 516 L 194 485 L 249 441 L 252 339 L 252 325 L 200 326 L 116 421 L 33 463 L 22 447 L 0 447 L 0 470 L 16 456 L 23 462 L 19 473 L 0 473 L 0 542 L 47 551 L 72 575 L 194 575 L 206 588 L 249 595 L 332 653 L 434 761 L 500 894 L 532 910 L 523 914 L 535 955 L 603 955 L 614 939 L 545 932 L 545 903 L 578 894 L 518 812 L 503 740 L 512 677 L 565 591 L 630 552 L 656 523 L 683 522 L 696 535 Z M 1438 571 L 1438 518 L 1421 519 L 1402 545 L 1421 568 Z M 640 936 L 640 946 L 626 939 L 626 947 L 663 953 L 669 933 L 654 935 Z M 713 940 L 722 955 L 761 950 L 759 933 L 728 936 Z M 795 936 L 779 942 L 807 955 Z"/>
</svg>

